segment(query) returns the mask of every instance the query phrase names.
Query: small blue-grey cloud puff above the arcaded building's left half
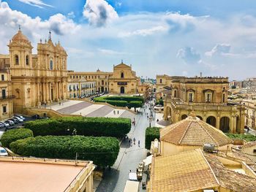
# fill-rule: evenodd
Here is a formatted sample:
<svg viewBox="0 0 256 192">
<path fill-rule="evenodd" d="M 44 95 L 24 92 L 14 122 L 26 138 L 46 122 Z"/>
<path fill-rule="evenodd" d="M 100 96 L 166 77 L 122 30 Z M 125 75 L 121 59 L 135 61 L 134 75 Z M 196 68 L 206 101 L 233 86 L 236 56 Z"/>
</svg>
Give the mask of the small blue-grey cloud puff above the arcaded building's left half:
<svg viewBox="0 0 256 192">
<path fill-rule="evenodd" d="M 181 58 L 186 64 L 197 64 L 200 62 L 200 54 L 193 47 L 185 47 L 178 50 L 177 58 Z"/>
</svg>

